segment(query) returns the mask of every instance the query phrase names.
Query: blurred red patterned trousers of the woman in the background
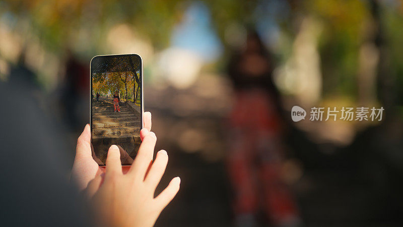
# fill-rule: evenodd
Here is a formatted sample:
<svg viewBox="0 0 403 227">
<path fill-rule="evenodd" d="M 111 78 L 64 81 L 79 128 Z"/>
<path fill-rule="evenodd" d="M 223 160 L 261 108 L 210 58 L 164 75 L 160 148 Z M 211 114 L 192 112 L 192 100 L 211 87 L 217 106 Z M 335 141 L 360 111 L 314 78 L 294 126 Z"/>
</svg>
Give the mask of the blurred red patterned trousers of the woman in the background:
<svg viewBox="0 0 403 227">
<path fill-rule="evenodd" d="M 274 223 L 298 217 L 293 196 L 281 179 L 284 144 L 273 100 L 259 90 L 236 97 L 229 119 L 227 154 L 235 214 L 263 210 Z"/>
</svg>

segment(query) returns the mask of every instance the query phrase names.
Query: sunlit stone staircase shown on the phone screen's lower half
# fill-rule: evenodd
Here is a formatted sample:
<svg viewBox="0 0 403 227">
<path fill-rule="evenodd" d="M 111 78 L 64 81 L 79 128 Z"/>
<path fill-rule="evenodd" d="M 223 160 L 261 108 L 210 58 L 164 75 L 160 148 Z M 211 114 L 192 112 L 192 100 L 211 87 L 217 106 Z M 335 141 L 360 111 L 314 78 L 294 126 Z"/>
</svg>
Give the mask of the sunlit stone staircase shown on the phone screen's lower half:
<svg viewBox="0 0 403 227">
<path fill-rule="evenodd" d="M 92 145 L 104 163 L 112 144 L 122 147 L 131 157 L 140 146 L 140 113 L 125 103 L 121 105 L 120 112 L 114 112 L 111 100 L 93 101 Z"/>
</svg>

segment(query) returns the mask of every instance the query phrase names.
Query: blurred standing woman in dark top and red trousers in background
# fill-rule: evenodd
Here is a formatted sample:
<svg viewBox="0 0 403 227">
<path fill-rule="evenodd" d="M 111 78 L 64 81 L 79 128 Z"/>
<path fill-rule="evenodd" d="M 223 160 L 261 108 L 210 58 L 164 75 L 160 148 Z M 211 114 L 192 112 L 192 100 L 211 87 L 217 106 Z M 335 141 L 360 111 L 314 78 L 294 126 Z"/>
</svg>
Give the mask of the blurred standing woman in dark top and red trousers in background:
<svg viewBox="0 0 403 227">
<path fill-rule="evenodd" d="M 272 71 L 258 34 L 248 32 L 244 49 L 233 56 L 228 68 L 235 94 L 227 163 L 236 226 L 257 225 L 261 212 L 275 226 L 299 225 L 296 204 L 280 177 L 283 124 Z"/>
</svg>

